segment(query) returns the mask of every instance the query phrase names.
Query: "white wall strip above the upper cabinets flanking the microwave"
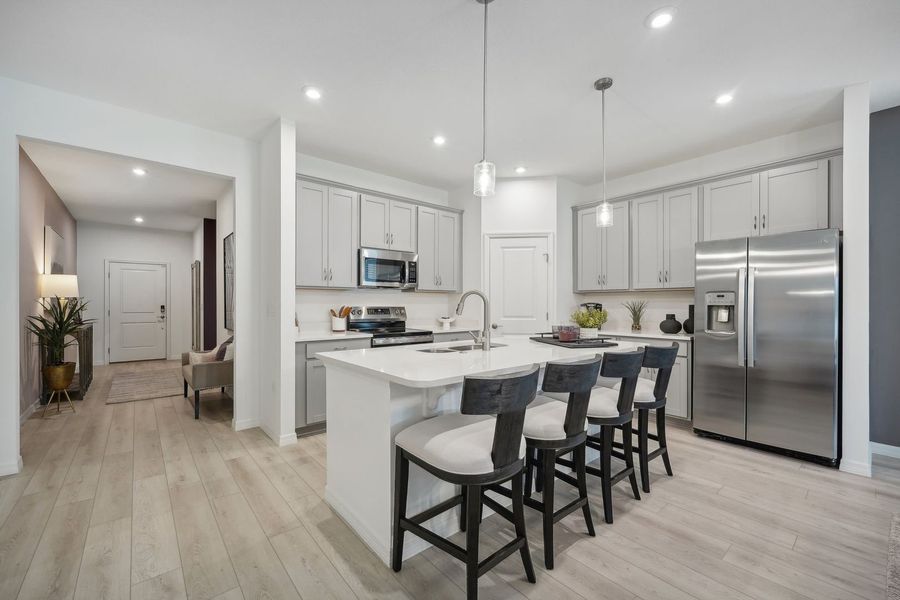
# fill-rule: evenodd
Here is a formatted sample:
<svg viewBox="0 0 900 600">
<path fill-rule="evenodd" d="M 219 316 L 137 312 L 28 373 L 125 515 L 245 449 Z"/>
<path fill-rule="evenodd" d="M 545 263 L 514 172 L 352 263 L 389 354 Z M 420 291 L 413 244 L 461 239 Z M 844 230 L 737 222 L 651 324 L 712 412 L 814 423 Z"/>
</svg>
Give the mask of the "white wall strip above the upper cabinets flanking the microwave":
<svg viewBox="0 0 900 600">
<path fill-rule="evenodd" d="M 447 190 L 336 163 L 324 158 L 309 156 L 308 154 L 297 154 L 297 173 L 309 177 L 328 179 L 344 185 L 374 190 L 383 194 L 405 196 L 422 202 L 447 205 Z"/>
</svg>

